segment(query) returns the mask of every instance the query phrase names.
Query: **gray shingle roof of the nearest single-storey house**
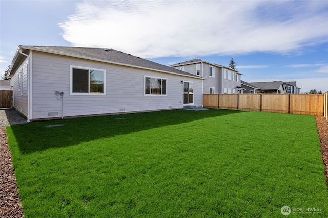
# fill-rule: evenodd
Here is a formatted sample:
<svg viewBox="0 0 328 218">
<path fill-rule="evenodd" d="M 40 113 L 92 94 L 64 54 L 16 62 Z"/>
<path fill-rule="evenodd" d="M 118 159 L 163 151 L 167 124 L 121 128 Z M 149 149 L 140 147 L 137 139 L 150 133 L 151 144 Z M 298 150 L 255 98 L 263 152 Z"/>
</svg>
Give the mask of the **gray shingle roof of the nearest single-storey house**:
<svg viewBox="0 0 328 218">
<path fill-rule="evenodd" d="M 188 72 L 181 71 L 169 66 L 165 66 L 153 61 L 142 59 L 114 49 L 102 49 L 92 47 L 60 47 L 60 46 L 22 46 L 24 49 L 44 51 L 73 57 L 82 57 L 86 59 L 97 59 L 105 62 L 114 62 L 124 65 L 137 66 L 148 69 L 161 70 L 174 74 L 198 77 Z M 200 77 L 198 77 L 200 78 Z"/>
</svg>

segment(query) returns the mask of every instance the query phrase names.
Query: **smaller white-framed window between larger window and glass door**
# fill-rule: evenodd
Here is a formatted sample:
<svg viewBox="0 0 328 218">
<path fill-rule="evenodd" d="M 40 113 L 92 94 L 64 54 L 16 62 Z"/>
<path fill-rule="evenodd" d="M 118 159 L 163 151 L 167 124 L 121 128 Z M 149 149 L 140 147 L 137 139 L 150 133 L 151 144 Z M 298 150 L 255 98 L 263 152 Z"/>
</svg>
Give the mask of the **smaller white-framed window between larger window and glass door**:
<svg viewBox="0 0 328 218">
<path fill-rule="evenodd" d="M 145 77 L 145 95 L 166 95 L 167 79 Z"/>
</svg>

